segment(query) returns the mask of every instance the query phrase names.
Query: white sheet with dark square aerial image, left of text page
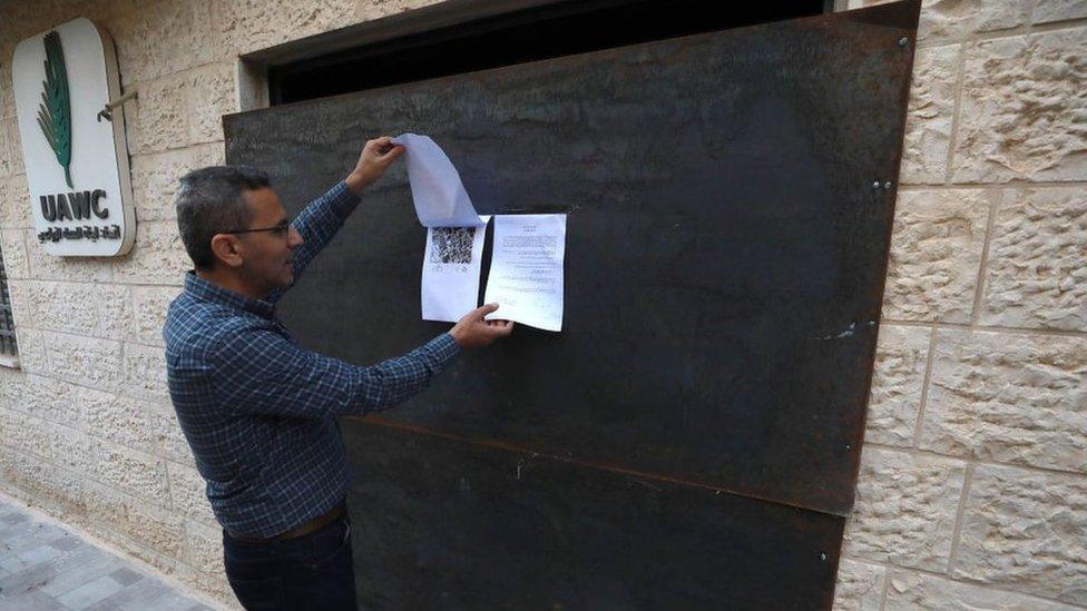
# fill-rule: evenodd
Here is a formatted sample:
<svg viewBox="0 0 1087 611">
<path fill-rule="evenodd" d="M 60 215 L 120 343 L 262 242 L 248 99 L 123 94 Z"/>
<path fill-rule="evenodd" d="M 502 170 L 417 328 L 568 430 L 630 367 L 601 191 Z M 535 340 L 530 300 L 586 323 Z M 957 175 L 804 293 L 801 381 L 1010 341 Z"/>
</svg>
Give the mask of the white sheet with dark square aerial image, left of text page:
<svg viewBox="0 0 1087 611">
<path fill-rule="evenodd" d="M 482 217 L 486 224 L 490 217 Z M 476 308 L 487 226 L 430 227 L 423 253 L 423 321 L 456 323 Z"/>
</svg>

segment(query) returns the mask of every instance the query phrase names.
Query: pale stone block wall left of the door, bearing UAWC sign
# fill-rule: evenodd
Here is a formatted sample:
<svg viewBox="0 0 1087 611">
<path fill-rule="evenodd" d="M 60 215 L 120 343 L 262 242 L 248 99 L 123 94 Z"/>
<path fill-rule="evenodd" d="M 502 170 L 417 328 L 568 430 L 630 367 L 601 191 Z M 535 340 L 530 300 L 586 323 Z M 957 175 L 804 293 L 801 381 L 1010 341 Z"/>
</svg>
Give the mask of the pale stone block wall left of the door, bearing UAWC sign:
<svg viewBox="0 0 1087 611">
<path fill-rule="evenodd" d="M 166 390 L 160 329 L 190 263 L 173 189 L 223 162 L 237 56 L 424 2 L 23 0 L 0 4 L 0 249 L 20 368 L 0 367 L 0 491 L 234 607 L 218 526 Z M 31 229 L 11 57 L 75 17 L 114 38 L 138 219 L 120 258 L 42 254 Z"/>
</svg>

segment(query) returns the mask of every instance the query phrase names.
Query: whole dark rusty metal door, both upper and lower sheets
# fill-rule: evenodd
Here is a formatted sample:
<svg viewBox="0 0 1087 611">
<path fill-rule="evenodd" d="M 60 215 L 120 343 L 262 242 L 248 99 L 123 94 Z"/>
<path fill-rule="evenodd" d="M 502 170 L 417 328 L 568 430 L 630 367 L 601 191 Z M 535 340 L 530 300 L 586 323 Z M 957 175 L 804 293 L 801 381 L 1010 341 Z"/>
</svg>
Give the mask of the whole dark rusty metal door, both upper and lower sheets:
<svg viewBox="0 0 1087 611">
<path fill-rule="evenodd" d="M 566 327 L 342 423 L 360 602 L 829 608 L 853 502 L 919 2 L 225 119 L 288 208 L 432 136 L 481 214 L 565 211 Z M 354 363 L 419 319 L 403 168 L 280 306 Z"/>
</svg>

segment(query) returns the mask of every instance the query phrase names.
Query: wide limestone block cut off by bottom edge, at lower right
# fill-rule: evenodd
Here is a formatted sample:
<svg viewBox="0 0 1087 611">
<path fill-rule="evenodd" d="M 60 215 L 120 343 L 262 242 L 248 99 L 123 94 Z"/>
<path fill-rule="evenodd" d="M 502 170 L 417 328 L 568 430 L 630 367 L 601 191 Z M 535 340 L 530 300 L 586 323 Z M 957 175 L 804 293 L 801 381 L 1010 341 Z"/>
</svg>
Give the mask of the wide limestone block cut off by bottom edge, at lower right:
<svg viewBox="0 0 1087 611">
<path fill-rule="evenodd" d="M 982 588 L 926 573 L 893 570 L 887 611 L 1071 611 L 1059 602 Z"/>
</svg>

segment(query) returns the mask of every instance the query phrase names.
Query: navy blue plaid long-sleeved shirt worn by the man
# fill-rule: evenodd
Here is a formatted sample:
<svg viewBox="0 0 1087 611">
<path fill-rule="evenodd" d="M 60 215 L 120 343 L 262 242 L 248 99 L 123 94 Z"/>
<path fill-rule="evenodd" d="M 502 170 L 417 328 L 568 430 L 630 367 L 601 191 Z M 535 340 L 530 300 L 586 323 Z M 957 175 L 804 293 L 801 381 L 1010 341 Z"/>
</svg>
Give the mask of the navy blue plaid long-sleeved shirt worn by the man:
<svg viewBox="0 0 1087 611">
<path fill-rule="evenodd" d="M 340 183 L 298 215 L 296 276 L 358 204 Z M 177 418 L 215 516 L 234 534 L 273 536 L 343 500 L 347 463 L 336 416 L 404 401 L 458 353 L 444 333 L 370 367 L 322 356 L 276 319 L 284 290 L 251 299 L 189 272 L 163 328 Z"/>
</svg>

